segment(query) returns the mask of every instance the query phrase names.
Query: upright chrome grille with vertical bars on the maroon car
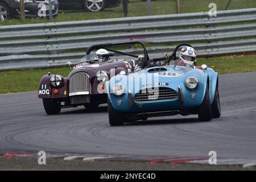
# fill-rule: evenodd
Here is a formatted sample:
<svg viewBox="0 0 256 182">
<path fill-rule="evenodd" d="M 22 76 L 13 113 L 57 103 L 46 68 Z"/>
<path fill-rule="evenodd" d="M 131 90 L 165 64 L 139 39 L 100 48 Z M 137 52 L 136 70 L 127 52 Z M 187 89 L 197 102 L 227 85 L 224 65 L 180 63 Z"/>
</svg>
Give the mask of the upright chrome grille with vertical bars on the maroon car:
<svg viewBox="0 0 256 182">
<path fill-rule="evenodd" d="M 77 72 L 69 79 L 69 96 L 88 95 L 90 77 L 85 72 Z"/>
</svg>

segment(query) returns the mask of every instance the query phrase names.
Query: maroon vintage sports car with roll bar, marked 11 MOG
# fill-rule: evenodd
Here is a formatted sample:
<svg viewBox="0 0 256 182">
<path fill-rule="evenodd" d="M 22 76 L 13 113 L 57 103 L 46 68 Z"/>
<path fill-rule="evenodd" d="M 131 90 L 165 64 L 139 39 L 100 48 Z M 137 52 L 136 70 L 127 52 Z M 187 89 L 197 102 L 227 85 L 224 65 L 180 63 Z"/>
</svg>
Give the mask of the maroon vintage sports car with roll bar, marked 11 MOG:
<svg viewBox="0 0 256 182">
<path fill-rule="evenodd" d="M 110 47 L 131 46 L 131 44 L 140 44 L 143 47 L 143 55 L 138 56 L 110 49 Z M 105 49 L 108 53 L 98 57 L 91 54 L 93 49 Z M 112 59 L 113 53 L 126 55 L 130 58 Z M 47 114 L 59 114 L 61 108 L 81 105 L 85 106 L 86 109 L 96 109 L 98 105 L 107 103 L 105 81 L 117 74 L 129 74 L 143 69 L 147 60 L 147 50 L 141 42 L 91 46 L 87 49 L 86 56 L 73 66 L 68 77 L 52 75 L 51 73 L 44 75 L 39 84 L 38 97 L 43 99 L 44 110 Z"/>
</svg>

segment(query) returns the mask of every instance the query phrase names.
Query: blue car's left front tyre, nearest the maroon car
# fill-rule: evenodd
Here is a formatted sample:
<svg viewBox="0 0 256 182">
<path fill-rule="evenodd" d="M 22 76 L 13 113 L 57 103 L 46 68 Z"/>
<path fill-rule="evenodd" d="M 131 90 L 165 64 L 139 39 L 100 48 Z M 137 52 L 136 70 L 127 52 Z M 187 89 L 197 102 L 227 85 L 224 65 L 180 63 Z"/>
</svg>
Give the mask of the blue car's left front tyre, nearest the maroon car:
<svg viewBox="0 0 256 182">
<path fill-rule="evenodd" d="M 111 102 L 108 98 L 108 113 L 109 113 L 109 125 L 110 126 L 121 126 L 125 120 L 125 114 L 119 113 L 114 110 Z"/>
</svg>

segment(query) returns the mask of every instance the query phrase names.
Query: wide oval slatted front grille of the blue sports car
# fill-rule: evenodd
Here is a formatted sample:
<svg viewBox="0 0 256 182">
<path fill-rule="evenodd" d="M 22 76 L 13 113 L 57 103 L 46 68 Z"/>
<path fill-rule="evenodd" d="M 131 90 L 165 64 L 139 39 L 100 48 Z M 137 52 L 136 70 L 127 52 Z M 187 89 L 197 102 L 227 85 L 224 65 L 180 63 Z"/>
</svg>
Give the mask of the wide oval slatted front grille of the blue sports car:
<svg viewBox="0 0 256 182">
<path fill-rule="evenodd" d="M 147 102 L 147 101 L 159 101 L 159 100 L 174 100 L 176 99 L 177 92 L 174 89 L 159 87 L 158 89 L 142 89 L 135 94 L 135 101 Z"/>
</svg>

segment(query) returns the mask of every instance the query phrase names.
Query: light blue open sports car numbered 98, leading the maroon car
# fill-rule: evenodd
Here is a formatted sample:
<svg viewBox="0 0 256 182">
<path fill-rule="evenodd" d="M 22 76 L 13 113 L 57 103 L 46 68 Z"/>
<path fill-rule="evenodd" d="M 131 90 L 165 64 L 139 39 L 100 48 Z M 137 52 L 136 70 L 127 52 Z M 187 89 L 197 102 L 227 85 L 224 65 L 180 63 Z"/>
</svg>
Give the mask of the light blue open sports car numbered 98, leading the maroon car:
<svg viewBox="0 0 256 182">
<path fill-rule="evenodd" d="M 184 46 L 193 49 L 179 44 L 171 55 L 151 60 L 144 47 L 144 55 L 138 56 L 139 63 L 144 64 L 142 69 L 106 82 L 111 126 L 176 114 L 198 114 L 200 121 L 220 117 L 218 73 L 205 64 L 197 67 L 196 60 L 192 66 L 179 64 L 176 52 Z M 180 55 L 185 51 L 193 53 L 183 48 Z"/>
</svg>

